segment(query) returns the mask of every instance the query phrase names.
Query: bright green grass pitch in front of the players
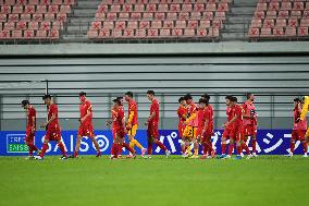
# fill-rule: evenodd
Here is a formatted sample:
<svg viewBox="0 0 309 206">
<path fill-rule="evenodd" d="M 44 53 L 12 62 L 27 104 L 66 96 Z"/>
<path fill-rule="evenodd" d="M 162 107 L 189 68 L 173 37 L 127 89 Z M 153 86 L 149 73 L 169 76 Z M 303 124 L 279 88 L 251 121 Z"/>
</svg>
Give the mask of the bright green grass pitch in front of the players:
<svg viewBox="0 0 309 206">
<path fill-rule="evenodd" d="M 309 204 L 309 158 L 251 160 L 0 157 L 2 206 Z"/>
</svg>

